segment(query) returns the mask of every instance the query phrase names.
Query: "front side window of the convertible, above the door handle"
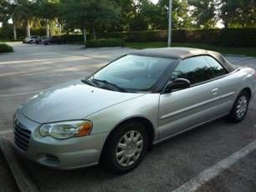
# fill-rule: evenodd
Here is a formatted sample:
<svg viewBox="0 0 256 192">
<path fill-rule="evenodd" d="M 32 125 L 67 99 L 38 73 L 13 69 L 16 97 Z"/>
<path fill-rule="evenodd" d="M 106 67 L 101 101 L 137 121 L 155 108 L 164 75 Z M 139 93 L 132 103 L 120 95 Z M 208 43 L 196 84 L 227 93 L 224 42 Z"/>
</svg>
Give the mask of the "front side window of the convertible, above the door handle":
<svg viewBox="0 0 256 192">
<path fill-rule="evenodd" d="M 172 80 L 187 78 L 192 84 L 207 81 L 213 77 L 212 70 L 204 56 L 187 58 L 178 64 L 172 73 Z"/>
</svg>

